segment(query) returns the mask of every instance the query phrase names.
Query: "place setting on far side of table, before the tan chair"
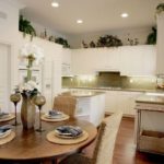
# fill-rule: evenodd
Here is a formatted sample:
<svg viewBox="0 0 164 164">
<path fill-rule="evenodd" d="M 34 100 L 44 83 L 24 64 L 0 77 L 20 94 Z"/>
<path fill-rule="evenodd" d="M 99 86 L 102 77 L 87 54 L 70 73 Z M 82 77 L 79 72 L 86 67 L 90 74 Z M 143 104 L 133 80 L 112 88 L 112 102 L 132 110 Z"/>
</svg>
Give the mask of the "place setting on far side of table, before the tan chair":
<svg viewBox="0 0 164 164">
<path fill-rule="evenodd" d="M 45 121 L 62 121 L 69 119 L 70 116 L 66 115 L 62 112 L 59 110 L 48 110 L 44 115 L 42 115 L 42 120 Z"/>
</svg>

